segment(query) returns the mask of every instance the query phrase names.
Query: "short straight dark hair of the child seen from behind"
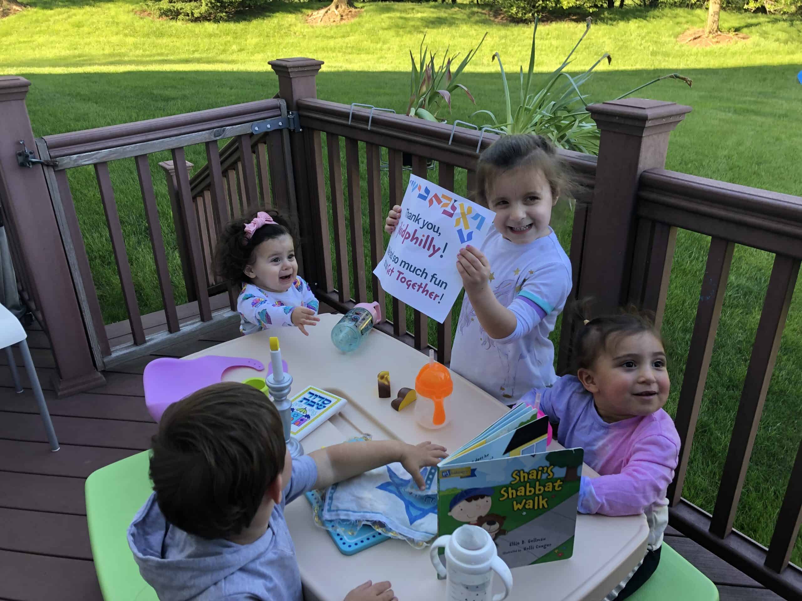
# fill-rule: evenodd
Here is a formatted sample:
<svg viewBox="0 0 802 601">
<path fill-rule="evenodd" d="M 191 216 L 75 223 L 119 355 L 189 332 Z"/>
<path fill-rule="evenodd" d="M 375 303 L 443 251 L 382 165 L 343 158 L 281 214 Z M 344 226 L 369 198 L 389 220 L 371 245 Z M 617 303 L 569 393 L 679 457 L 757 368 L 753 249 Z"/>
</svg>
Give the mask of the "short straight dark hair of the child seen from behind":
<svg viewBox="0 0 802 601">
<path fill-rule="evenodd" d="M 173 403 L 152 438 L 150 478 L 167 521 L 203 538 L 239 534 L 284 470 L 282 418 L 265 393 L 221 382 Z"/>
</svg>

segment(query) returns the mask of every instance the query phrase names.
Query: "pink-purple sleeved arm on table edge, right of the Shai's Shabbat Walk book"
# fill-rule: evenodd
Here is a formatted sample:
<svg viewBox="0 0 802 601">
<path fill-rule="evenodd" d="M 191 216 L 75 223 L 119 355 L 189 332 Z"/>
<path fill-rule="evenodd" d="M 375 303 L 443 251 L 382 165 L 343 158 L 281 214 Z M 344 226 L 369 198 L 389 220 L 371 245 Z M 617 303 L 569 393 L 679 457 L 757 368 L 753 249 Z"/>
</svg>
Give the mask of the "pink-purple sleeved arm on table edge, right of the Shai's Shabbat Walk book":
<svg viewBox="0 0 802 601">
<path fill-rule="evenodd" d="M 582 514 L 635 515 L 666 496 L 674 479 L 679 449 L 653 435 L 638 441 L 620 474 L 582 476 L 578 510 Z"/>
</svg>

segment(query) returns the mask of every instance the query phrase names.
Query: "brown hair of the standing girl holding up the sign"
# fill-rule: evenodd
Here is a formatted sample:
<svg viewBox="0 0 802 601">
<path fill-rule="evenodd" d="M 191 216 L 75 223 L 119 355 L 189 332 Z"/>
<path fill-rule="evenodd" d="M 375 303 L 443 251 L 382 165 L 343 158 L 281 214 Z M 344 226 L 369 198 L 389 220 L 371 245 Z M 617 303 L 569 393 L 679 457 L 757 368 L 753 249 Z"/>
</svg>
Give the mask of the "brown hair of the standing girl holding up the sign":
<svg viewBox="0 0 802 601">
<path fill-rule="evenodd" d="M 476 190 L 468 190 L 472 200 L 488 206 L 488 188 L 504 171 L 529 165 L 543 171 L 555 200 L 577 192 L 573 170 L 557 154 L 557 148 L 542 135 L 502 135 L 484 149 L 476 164 Z"/>
</svg>

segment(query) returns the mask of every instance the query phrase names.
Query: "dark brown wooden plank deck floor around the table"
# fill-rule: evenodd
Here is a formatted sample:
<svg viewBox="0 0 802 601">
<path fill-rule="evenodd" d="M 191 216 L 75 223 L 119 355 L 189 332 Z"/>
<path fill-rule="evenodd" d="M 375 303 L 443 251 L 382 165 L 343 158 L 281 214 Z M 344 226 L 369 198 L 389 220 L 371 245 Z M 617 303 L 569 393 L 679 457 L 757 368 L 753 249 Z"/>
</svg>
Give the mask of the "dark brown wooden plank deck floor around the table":
<svg viewBox="0 0 802 601">
<path fill-rule="evenodd" d="M 107 371 L 101 389 L 57 399 L 47 389 L 54 366 L 47 337 L 31 332 L 28 344 L 61 444 L 58 453 L 48 449 L 30 389 L 14 393 L 0 353 L 0 599 L 101 601 L 87 533 L 85 478 L 148 449 L 156 424 L 145 410 L 141 374 L 149 361 L 184 357 L 238 335 L 236 324 L 226 325 Z M 723 601 L 780 599 L 677 530 L 669 527 L 666 542 L 719 587 Z"/>
</svg>

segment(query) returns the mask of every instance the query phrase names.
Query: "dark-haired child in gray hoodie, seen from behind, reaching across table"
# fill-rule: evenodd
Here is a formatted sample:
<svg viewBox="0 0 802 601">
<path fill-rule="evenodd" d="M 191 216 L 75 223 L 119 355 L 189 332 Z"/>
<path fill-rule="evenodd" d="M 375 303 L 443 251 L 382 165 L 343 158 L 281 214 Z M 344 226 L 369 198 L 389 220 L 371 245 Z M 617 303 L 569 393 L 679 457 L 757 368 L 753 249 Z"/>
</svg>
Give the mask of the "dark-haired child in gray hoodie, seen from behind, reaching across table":
<svg viewBox="0 0 802 601">
<path fill-rule="evenodd" d="M 170 405 L 153 437 L 153 494 L 128 528 L 128 546 L 161 601 L 302 601 L 284 506 L 308 490 L 401 462 L 420 469 L 442 446 L 347 442 L 293 460 L 282 419 L 264 393 L 222 382 Z M 363 583 L 345 601 L 391 601 L 390 583 Z"/>
</svg>

